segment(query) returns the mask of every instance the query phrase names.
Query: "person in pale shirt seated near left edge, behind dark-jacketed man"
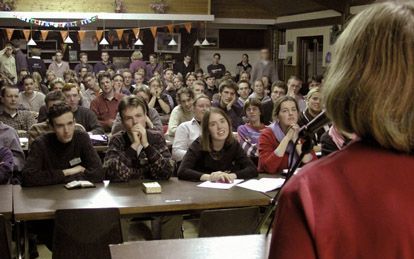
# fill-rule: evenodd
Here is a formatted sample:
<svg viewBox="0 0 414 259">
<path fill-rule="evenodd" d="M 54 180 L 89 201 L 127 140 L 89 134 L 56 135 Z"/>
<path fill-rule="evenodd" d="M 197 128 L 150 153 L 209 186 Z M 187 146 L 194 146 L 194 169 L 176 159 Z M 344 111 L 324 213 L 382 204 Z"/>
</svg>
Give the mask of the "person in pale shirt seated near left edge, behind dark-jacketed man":
<svg viewBox="0 0 414 259">
<path fill-rule="evenodd" d="M 35 81 L 30 75 L 23 78 L 23 87 L 24 91 L 19 93 L 19 104 L 26 110 L 38 113 L 45 104 L 45 95 L 35 90 Z"/>
</svg>

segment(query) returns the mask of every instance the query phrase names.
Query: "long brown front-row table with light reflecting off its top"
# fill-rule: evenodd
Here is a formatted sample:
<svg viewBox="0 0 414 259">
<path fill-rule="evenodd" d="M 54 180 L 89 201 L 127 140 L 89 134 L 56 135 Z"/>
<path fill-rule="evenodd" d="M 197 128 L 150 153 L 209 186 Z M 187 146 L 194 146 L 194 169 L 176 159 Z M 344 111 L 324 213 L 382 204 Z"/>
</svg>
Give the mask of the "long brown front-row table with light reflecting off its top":
<svg viewBox="0 0 414 259">
<path fill-rule="evenodd" d="M 51 219 L 58 209 L 120 209 L 121 215 L 182 212 L 204 209 L 267 206 L 268 196 L 233 187 L 230 190 L 200 188 L 199 183 L 171 178 L 160 181 L 161 194 L 145 194 L 139 181 L 103 183 L 96 188 L 66 190 L 63 185 L 44 187 L 13 186 L 16 220 Z"/>
</svg>

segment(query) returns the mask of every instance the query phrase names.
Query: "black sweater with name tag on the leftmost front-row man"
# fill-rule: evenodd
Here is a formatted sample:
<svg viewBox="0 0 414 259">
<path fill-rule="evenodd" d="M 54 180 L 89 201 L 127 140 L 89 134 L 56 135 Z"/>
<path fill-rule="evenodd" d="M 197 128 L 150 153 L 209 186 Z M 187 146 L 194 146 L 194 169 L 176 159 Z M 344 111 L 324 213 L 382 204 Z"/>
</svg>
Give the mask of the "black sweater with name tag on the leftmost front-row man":
<svg viewBox="0 0 414 259">
<path fill-rule="evenodd" d="M 70 163 L 76 158 L 80 158 L 79 165 L 85 167 L 85 172 L 65 176 L 64 169 L 78 165 Z M 69 143 L 61 143 L 55 133 L 37 138 L 30 148 L 22 174 L 24 186 L 62 184 L 73 180 L 103 180 L 101 160 L 93 149 L 88 134 L 81 131 L 75 131 Z"/>
</svg>

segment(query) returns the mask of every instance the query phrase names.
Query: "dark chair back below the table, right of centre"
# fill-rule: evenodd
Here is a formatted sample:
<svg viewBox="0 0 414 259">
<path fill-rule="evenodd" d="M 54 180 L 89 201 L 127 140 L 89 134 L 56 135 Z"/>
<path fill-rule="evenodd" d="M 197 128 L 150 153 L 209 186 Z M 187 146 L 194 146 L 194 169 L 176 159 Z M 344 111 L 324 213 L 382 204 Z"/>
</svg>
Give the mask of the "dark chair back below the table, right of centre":
<svg viewBox="0 0 414 259">
<path fill-rule="evenodd" d="M 201 212 L 199 237 L 257 234 L 259 207 L 205 210 Z"/>
</svg>

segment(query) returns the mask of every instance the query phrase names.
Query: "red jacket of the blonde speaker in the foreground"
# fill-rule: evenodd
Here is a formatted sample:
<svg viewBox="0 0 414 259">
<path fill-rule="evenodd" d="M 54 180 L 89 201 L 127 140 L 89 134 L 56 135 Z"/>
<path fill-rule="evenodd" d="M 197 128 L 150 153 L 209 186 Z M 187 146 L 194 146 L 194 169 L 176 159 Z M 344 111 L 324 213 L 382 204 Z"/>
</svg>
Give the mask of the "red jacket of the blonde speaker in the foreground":
<svg viewBox="0 0 414 259">
<path fill-rule="evenodd" d="M 283 189 L 269 258 L 414 258 L 414 157 L 357 142 Z"/>
</svg>

